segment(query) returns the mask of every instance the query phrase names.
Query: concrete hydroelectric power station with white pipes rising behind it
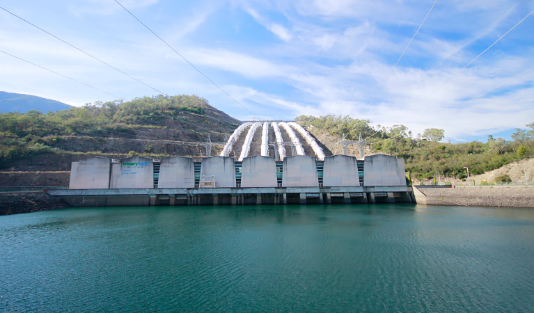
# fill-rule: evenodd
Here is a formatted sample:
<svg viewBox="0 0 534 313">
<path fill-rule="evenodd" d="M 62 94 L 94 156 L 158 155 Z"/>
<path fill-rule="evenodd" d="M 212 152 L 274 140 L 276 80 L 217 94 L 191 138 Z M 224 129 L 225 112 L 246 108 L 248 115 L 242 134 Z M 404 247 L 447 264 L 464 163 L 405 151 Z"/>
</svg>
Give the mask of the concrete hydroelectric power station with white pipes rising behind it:
<svg viewBox="0 0 534 313">
<path fill-rule="evenodd" d="M 246 129 L 239 150 L 235 145 Z M 269 129 L 274 141 L 269 141 Z M 260 131 L 260 153 L 250 155 Z M 47 192 L 79 207 L 415 202 L 402 159 L 327 157 L 295 122 L 244 122 L 219 156 L 211 157 L 210 150 L 208 143 L 207 156 L 198 160 L 95 157 L 72 162 L 69 189 Z"/>
</svg>

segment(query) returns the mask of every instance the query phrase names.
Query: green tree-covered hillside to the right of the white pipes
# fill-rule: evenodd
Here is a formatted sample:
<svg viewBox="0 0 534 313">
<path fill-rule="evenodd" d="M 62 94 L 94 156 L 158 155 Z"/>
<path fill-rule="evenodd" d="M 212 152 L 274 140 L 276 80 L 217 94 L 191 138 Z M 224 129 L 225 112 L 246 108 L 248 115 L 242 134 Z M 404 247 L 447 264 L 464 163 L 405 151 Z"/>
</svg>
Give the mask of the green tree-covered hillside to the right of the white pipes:
<svg viewBox="0 0 534 313">
<path fill-rule="evenodd" d="M 329 149 L 340 152 L 336 145 L 343 134 L 350 141 L 357 141 L 359 134 L 370 145 L 370 154 L 385 153 L 404 159 L 406 170 L 411 177 L 427 179 L 441 173 L 441 176 L 466 177 L 464 166 L 469 167 L 473 175 L 482 174 L 501 166 L 534 157 L 534 122 L 526 125 L 528 129 L 516 129 L 512 141 L 493 138 L 489 135 L 486 143 L 442 143 L 442 129 L 426 129 L 423 134 L 411 134 L 404 125 L 375 128 L 369 120 L 357 120 L 348 116 L 326 115 L 319 118 L 300 115 L 295 119 L 317 138 L 322 139 Z M 355 146 L 354 146 L 355 147 Z M 349 152 L 356 155 L 352 147 Z"/>
</svg>

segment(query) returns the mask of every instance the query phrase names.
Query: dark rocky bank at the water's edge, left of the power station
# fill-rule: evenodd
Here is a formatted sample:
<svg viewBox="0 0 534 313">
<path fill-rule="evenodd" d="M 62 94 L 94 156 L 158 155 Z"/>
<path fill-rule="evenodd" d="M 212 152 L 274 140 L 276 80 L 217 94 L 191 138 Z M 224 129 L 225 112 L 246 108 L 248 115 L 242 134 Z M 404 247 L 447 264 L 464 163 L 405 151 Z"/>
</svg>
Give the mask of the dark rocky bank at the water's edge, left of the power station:
<svg viewBox="0 0 534 313">
<path fill-rule="evenodd" d="M 42 191 L 0 193 L 0 215 L 64 209 L 67 207 L 70 206 Z"/>
</svg>

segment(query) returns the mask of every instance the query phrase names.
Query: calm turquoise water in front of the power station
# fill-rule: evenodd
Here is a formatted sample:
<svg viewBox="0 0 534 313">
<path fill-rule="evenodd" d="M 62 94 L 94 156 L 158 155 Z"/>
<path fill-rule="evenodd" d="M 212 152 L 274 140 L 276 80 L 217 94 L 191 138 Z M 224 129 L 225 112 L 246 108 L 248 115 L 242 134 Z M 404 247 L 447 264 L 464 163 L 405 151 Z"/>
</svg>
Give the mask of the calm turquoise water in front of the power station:
<svg viewBox="0 0 534 313">
<path fill-rule="evenodd" d="M 0 216 L 0 312 L 534 312 L 534 209 Z"/>
</svg>

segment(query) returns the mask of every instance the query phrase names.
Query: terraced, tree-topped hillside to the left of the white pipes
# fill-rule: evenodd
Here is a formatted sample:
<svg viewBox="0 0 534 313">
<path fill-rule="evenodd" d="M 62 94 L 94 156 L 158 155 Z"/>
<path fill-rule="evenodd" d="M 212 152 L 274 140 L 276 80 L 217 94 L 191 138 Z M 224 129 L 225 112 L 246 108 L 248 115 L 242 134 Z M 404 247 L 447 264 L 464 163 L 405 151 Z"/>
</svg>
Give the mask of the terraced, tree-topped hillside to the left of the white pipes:
<svg viewBox="0 0 534 313">
<path fill-rule="evenodd" d="M 43 114 L 0 114 L 0 168 L 70 170 L 94 155 L 198 156 L 207 135 L 223 141 L 239 120 L 190 95 L 95 102 Z M 214 148 L 214 152 L 217 148 Z"/>
</svg>

